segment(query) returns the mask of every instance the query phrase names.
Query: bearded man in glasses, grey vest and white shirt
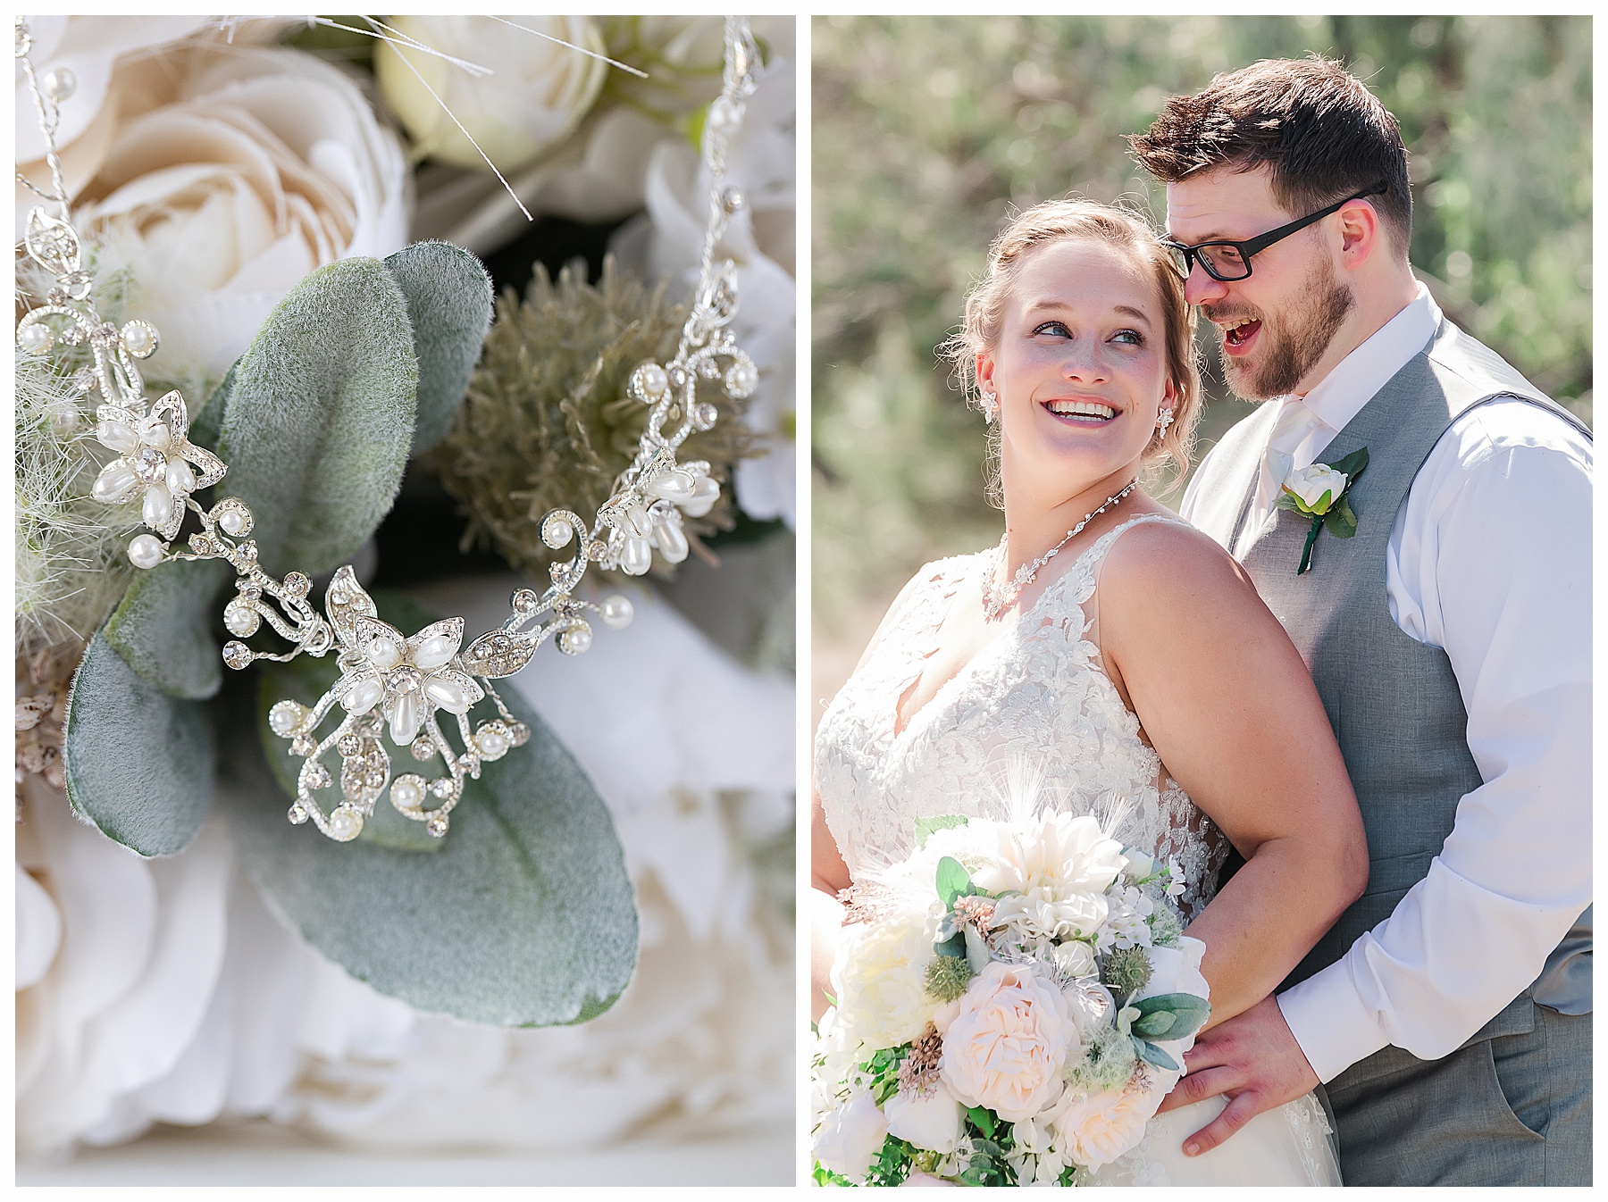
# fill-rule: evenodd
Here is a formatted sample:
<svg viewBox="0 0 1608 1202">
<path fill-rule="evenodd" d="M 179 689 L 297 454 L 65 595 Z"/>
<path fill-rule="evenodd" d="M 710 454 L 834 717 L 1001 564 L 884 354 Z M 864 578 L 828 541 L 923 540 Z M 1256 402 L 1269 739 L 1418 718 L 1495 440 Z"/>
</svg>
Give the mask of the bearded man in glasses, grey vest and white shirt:
<svg viewBox="0 0 1608 1202">
<path fill-rule="evenodd" d="M 1225 1094 L 1206 1151 L 1322 1081 L 1346 1184 L 1589 1184 L 1590 435 L 1413 278 L 1401 133 L 1339 64 L 1219 76 L 1132 146 L 1264 402 L 1183 516 L 1312 668 L 1372 861 L 1164 1109 Z M 1354 535 L 1320 525 L 1298 574 L 1314 519 L 1283 484 L 1360 450 Z"/>
</svg>

